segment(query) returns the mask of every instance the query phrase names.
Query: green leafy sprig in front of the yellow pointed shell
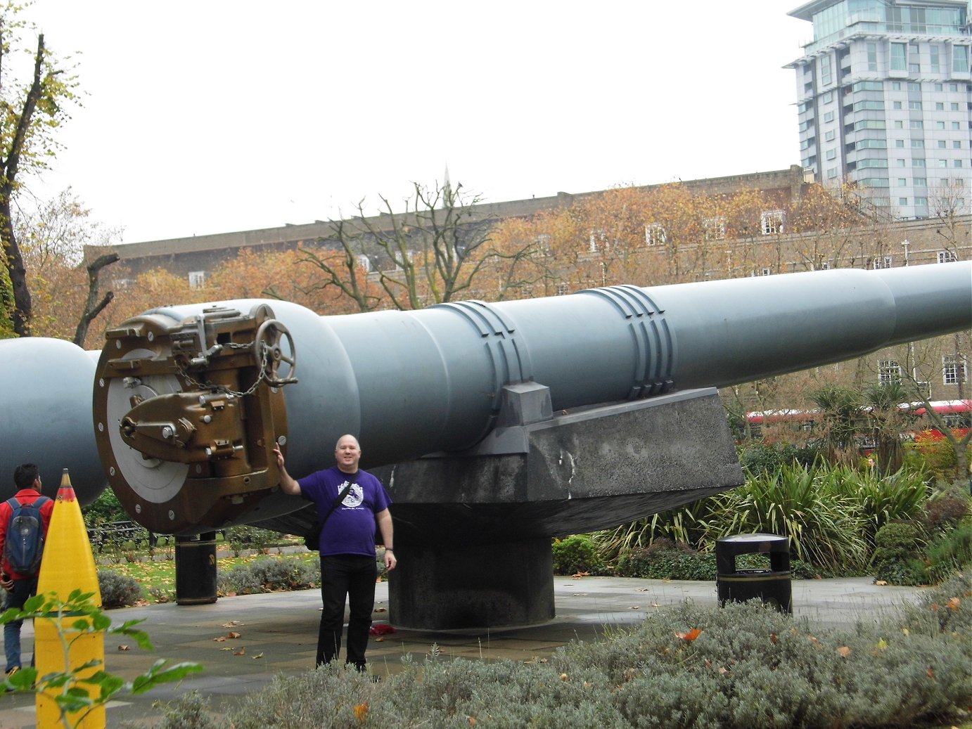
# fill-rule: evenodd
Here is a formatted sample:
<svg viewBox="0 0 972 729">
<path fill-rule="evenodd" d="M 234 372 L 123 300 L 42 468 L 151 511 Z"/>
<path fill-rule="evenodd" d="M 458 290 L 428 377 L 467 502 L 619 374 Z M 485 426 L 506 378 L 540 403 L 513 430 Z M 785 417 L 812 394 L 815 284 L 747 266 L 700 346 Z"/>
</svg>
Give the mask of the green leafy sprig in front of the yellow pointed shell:
<svg viewBox="0 0 972 729">
<path fill-rule="evenodd" d="M 65 667 L 71 665 L 72 644 L 94 633 L 125 636 L 145 650 L 155 650 L 149 635 L 135 627 L 144 622 L 142 619 L 113 624 L 111 618 L 94 604 L 92 597 L 93 593 L 81 590 L 74 590 L 66 601 L 60 600 L 55 593 L 36 595 L 24 604 L 23 609 L 10 608 L 0 615 L 0 625 L 15 620 L 52 619 L 57 625 Z M 65 729 L 72 729 L 79 726 L 89 712 L 104 706 L 122 691 L 132 695 L 143 694 L 160 683 L 181 680 L 202 671 L 202 666 L 196 663 L 167 666 L 165 660 L 158 660 L 145 674 L 126 681 L 105 671 L 103 663 L 89 661 L 82 666 L 45 676 L 39 676 L 33 667 L 23 668 L 7 677 L 4 687 L 10 691 L 43 692 L 50 696 L 60 712 L 58 723 Z"/>
</svg>

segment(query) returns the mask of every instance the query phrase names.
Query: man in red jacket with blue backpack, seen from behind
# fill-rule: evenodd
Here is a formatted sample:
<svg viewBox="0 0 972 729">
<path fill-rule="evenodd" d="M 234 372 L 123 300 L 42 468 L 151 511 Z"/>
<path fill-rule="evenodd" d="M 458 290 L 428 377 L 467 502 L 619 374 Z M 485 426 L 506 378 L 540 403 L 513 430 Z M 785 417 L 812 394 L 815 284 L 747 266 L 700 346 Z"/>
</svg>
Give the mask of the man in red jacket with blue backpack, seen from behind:
<svg viewBox="0 0 972 729">
<path fill-rule="evenodd" d="M 41 474 L 34 464 L 14 469 L 17 494 L 0 503 L 0 587 L 7 595 L 7 608 L 22 609 L 37 594 L 44 541 L 51 526 L 52 499 L 41 496 Z M 20 670 L 20 626 L 22 620 L 3 626 L 7 676 Z M 31 658 L 33 665 L 33 658 Z"/>
</svg>

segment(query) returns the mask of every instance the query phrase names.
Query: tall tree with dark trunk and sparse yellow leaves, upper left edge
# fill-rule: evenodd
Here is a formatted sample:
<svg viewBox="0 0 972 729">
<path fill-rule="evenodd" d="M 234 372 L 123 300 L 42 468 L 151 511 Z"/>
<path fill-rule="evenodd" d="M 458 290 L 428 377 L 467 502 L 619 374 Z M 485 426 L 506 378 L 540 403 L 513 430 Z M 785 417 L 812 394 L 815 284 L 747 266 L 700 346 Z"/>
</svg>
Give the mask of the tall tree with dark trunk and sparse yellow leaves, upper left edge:
<svg viewBox="0 0 972 729">
<path fill-rule="evenodd" d="M 70 69 L 48 51 L 44 34 L 32 51 L 32 73 L 19 82 L 10 77 L 17 67 L 20 33 L 32 30 L 17 17 L 13 2 L 0 8 L 0 241 L 3 242 L 3 283 L 0 306 L 8 312 L 17 336 L 30 333 L 32 301 L 23 255 L 14 229 L 13 207 L 21 178 L 47 168 L 57 150 L 53 132 L 67 118 L 66 105 L 77 86 Z"/>
</svg>

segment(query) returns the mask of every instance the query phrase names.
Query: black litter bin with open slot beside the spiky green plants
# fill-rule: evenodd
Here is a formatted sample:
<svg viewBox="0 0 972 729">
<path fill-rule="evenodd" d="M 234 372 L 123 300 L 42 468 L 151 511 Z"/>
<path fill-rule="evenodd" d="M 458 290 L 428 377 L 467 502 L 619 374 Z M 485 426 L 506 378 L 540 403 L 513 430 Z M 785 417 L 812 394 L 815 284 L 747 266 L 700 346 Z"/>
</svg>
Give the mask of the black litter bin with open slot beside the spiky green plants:
<svg viewBox="0 0 972 729">
<path fill-rule="evenodd" d="M 741 554 L 765 554 L 769 568 L 737 570 Z M 740 534 L 715 540 L 715 587 L 719 605 L 758 599 L 781 612 L 793 612 L 789 540 L 775 534 Z"/>
</svg>

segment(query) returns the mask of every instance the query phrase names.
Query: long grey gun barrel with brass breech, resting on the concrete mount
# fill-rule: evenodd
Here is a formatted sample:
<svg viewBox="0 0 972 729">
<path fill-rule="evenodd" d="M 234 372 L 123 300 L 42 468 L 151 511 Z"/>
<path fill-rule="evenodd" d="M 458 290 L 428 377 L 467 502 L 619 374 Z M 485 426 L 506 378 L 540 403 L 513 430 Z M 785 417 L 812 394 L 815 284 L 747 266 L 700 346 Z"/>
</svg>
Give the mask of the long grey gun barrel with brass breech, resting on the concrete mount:
<svg viewBox="0 0 972 729">
<path fill-rule="evenodd" d="M 164 307 L 108 332 L 95 437 L 136 519 L 194 533 L 299 505 L 274 490 L 275 442 L 299 474 L 330 461 L 341 434 L 358 434 L 373 468 L 475 447 L 497 428 L 512 383 L 542 385 L 557 412 L 970 327 L 968 261 L 326 317 L 282 301 Z"/>
</svg>

